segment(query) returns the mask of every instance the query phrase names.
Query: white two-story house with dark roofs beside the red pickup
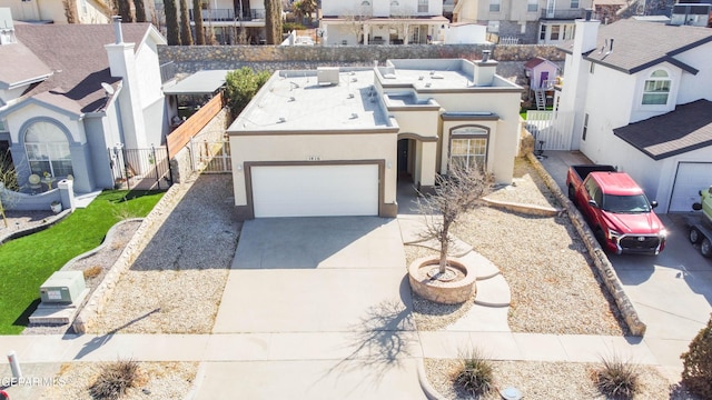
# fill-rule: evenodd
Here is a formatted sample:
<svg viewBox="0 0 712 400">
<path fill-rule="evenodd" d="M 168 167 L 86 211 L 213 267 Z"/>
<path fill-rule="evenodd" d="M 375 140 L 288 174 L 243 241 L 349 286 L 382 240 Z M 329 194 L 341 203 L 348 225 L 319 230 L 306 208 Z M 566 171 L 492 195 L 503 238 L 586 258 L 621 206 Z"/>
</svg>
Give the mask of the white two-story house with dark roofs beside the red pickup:
<svg viewBox="0 0 712 400">
<path fill-rule="evenodd" d="M 712 30 L 576 21 L 555 121 L 597 163 L 629 172 L 662 212 L 712 183 Z M 641 40 L 644 38 L 644 40 Z"/>
</svg>

